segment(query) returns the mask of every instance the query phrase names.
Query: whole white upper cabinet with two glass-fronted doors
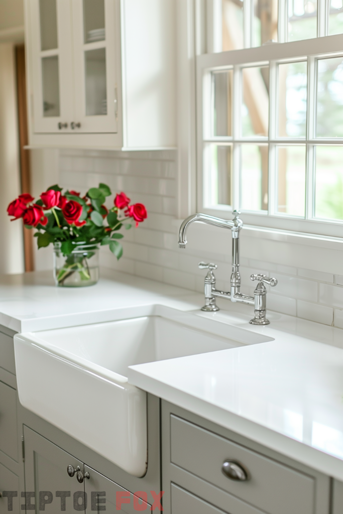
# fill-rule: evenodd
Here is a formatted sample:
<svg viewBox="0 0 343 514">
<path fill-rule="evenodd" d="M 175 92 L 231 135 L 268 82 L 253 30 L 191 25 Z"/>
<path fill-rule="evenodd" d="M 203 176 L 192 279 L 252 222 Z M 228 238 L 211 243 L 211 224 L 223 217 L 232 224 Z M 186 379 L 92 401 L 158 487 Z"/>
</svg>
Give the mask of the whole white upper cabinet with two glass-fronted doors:
<svg viewBox="0 0 343 514">
<path fill-rule="evenodd" d="M 175 0 L 25 0 L 30 145 L 174 148 Z"/>
</svg>

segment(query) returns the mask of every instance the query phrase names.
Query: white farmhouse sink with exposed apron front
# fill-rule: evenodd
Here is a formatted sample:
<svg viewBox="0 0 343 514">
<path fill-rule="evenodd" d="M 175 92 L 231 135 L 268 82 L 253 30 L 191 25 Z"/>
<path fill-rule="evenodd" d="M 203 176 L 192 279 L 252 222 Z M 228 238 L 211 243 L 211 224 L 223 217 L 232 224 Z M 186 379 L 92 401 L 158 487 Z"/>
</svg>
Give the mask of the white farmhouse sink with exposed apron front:
<svg viewBox="0 0 343 514">
<path fill-rule="evenodd" d="M 17 334 L 20 402 L 125 471 L 142 476 L 147 468 L 146 393 L 128 382 L 128 366 L 270 340 L 163 310 L 164 316 Z"/>
</svg>

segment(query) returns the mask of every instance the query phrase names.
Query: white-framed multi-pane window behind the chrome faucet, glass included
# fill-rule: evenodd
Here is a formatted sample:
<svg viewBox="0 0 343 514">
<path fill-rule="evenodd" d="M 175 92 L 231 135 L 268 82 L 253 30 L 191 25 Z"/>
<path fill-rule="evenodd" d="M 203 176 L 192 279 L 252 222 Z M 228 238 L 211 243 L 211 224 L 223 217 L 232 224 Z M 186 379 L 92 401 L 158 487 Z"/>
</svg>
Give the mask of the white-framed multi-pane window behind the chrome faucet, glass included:
<svg viewBox="0 0 343 514">
<path fill-rule="evenodd" d="M 199 207 L 342 237 L 343 0 L 211 4 L 214 51 L 197 57 Z"/>
</svg>

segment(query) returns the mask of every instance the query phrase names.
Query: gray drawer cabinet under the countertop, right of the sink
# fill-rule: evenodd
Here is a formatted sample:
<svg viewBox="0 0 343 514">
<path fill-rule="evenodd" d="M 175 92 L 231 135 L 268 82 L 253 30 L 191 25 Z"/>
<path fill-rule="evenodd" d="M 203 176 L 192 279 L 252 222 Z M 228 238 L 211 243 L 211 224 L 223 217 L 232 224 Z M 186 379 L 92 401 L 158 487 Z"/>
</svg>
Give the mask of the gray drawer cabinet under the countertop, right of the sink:
<svg viewBox="0 0 343 514">
<path fill-rule="evenodd" d="M 161 429 L 168 514 L 329 514 L 326 475 L 168 402 L 162 402 Z M 228 478 L 228 460 L 246 480 Z"/>
</svg>

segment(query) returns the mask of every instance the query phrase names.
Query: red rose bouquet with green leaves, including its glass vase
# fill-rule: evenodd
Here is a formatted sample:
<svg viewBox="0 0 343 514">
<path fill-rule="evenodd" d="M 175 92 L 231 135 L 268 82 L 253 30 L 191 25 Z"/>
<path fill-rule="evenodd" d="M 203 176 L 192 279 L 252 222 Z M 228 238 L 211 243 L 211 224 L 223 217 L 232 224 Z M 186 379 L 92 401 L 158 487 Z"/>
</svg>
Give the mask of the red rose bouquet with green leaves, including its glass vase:
<svg viewBox="0 0 343 514">
<path fill-rule="evenodd" d="M 132 221 L 138 227 L 147 218 L 147 210 L 143 204 L 130 205 L 125 193 L 117 194 L 114 206 L 107 209 L 105 199 L 112 193 L 102 183 L 83 197 L 76 191 L 62 191 L 57 185 L 51 186 L 36 201 L 28 193 L 21 194 L 7 212 L 13 216 L 11 221 L 23 218 L 26 228 L 37 229 L 38 248 L 54 245 L 57 285 L 91 285 L 98 280 L 94 258 L 99 245 L 109 245 L 120 259 L 123 234 L 119 230 L 130 229 Z"/>
</svg>

